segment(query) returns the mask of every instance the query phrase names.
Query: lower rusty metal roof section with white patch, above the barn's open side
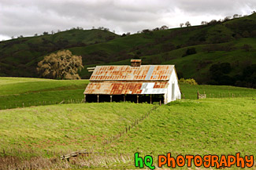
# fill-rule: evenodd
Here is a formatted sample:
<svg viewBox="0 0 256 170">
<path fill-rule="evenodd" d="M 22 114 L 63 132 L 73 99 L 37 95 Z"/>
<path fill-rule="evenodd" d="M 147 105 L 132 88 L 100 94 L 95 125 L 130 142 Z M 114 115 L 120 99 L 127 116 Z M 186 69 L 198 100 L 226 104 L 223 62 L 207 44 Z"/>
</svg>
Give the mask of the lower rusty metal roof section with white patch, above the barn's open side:
<svg viewBox="0 0 256 170">
<path fill-rule="evenodd" d="M 165 94 L 168 81 L 156 82 L 90 82 L 83 94 Z"/>
</svg>

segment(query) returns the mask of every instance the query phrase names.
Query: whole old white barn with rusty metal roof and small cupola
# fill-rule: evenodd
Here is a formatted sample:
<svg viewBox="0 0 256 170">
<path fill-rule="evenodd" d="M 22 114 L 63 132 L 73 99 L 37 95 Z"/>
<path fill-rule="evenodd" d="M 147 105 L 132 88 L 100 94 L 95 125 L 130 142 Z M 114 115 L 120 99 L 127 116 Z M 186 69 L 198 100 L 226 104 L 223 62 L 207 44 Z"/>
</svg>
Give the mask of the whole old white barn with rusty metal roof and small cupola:
<svg viewBox="0 0 256 170">
<path fill-rule="evenodd" d="M 83 92 L 85 102 L 169 103 L 181 96 L 174 65 L 141 65 L 141 60 L 131 60 L 131 66 L 91 69 Z"/>
</svg>

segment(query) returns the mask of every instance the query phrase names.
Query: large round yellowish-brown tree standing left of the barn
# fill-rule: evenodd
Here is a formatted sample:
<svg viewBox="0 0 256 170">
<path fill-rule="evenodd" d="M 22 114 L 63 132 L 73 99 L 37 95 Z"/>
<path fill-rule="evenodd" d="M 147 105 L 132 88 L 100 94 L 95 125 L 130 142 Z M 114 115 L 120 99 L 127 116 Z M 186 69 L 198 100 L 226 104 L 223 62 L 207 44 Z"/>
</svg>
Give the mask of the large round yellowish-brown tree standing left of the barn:
<svg viewBox="0 0 256 170">
<path fill-rule="evenodd" d="M 62 50 L 45 56 L 38 63 L 37 71 L 43 78 L 80 79 L 77 71 L 83 68 L 82 56 Z"/>
</svg>

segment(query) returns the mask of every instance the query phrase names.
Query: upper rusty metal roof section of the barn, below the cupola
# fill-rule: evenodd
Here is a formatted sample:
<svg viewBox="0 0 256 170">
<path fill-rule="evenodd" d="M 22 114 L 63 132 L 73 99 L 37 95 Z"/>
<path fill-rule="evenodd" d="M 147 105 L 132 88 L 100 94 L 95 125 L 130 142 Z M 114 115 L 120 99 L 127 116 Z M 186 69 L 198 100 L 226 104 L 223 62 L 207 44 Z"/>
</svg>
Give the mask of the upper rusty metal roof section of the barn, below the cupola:
<svg viewBox="0 0 256 170">
<path fill-rule="evenodd" d="M 142 65 L 131 66 L 97 66 L 91 74 L 90 81 L 167 81 L 171 77 L 174 65 Z"/>
</svg>

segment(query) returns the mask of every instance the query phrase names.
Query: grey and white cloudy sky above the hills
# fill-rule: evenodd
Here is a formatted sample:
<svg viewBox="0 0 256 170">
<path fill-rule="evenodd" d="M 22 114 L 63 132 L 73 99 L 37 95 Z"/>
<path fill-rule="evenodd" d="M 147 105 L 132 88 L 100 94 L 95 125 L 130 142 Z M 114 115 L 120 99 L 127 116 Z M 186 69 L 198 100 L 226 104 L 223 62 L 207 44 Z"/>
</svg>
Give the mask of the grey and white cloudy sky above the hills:
<svg viewBox="0 0 256 170">
<path fill-rule="evenodd" d="M 71 27 L 108 27 L 117 34 L 249 15 L 256 0 L 0 0 L 0 41 Z"/>
</svg>

